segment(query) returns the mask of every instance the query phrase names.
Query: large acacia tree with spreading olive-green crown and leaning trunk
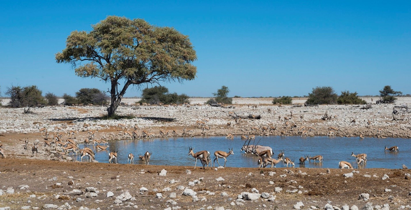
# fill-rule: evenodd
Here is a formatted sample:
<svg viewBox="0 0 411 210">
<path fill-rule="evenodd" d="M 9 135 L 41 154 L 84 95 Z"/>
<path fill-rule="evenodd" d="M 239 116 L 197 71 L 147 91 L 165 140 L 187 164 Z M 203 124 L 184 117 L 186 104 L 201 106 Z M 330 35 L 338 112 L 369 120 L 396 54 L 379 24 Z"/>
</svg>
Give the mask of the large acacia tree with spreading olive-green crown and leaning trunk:
<svg viewBox="0 0 411 210">
<path fill-rule="evenodd" d="M 76 75 L 110 82 L 108 115 L 115 114 L 130 85 L 193 80 L 197 59 L 188 36 L 172 27 L 157 27 L 143 19 L 108 16 L 90 32 L 73 31 L 58 63 L 74 66 Z"/>
</svg>

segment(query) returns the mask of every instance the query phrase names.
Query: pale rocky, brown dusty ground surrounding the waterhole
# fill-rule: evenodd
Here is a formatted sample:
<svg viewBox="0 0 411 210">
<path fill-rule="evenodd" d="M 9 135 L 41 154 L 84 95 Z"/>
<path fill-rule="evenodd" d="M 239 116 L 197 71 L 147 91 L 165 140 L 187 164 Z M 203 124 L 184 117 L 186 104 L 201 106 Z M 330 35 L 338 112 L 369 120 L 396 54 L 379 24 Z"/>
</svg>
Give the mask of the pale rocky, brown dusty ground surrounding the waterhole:
<svg viewBox="0 0 411 210">
<path fill-rule="evenodd" d="M 354 171 L 353 177 L 346 174 L 352 169 L 224 168 L 216 171 L 192 166 L 72 162 L 69 156 L 52 153 L 40 144 L 38 156 L 30 158 L 30 149 L 24 149 L 25 139 L 29 140 L 29 148 L 36 140 L 43 142 L 44 135 L 39 128 L 47 128 L 53 135 L 55 126 L 65 124 L 65 132 L 79 130 L 77 142 L 87 138 L 88 130 L 98 130 L 97 139 L 120 139 L 118 123 L 125 124 L 127 130 L 137 125 L 140 132 L 150 130 L 157 137 L 160 129 L 170 133 L 176 130 L 182 136 L 185 127 L 194 130 L 189 135 L 232 133 L 239 138 L 239 135 L 250 134 L 279 135 L 281 131 L 286 135 L 300 135 L 297 129 L 291 128 L 293 123 L 298 127 L 316 128 L 309 132 L 311 136 L 326 135 L 328 127 L 335 126 L 340 128 L 340 136 L 377 137 L 377 129 L 381 128 L 383 132 L 378 137 L 411 137 L 410 114 L 399 114 L 397 118 L 402 120 L 393 121 L 395 105 L 373 104 L 368 110 L 352 105 L 279 107 L 265 98 L 240 98 L 233 100 L 235 108 L 202 105 L 207 99 L 192 99 L 189 107 L 132 106 L 136 100 L 124 100 L 126 104 L 118 109 L 118 114 L 136 118 L 120 120 L 99 119 L 106 113 L 106 107 L 44 107 L 32 109 L 33 114 L 23 114 L 22 109 L 0 108 L 0 144 L 4 145 L 6 155 L 0 159 L 0 209 L 396 209 L 411 205 L 408 169 L 360 169 Z M 410 102 L 411 98 L 399 98 L 396 105 Z M 200 105 L 193 105 L 197 103 Z M 294 103 L 302 104 L 304 99 Z M 253 109 L 252 105 L 258 106 Z M 235 125 L 229 112 L 240 116 L 254 114 L 261 119 L 245 119 Z M 321 119 L 326 112 L 332 119 Z M 284 116 L 291 117 L 287 127 Z M 208 132 L 202 133 L 195 125 L 196 120 L 201 119 L 209 120 Z M 353 119 L 355 124 L 351 123 Z M 233 126 L 226 126 L 228 122 Z M 83 128 L 84 123 L 90 127 Z M 251 130 L 252 126 L 268 125 L 277 126 L 277 130 L 270 133 Z M 67 134 L 63 138 L 67 138 Z M 166 176 L 159 175 L 163 175 L 162 169 L 167 171 Z M 216 180 L 219 177 L 224 180 Z M 107 197 L 110 192 L 113 196 Z"/>
</svg>

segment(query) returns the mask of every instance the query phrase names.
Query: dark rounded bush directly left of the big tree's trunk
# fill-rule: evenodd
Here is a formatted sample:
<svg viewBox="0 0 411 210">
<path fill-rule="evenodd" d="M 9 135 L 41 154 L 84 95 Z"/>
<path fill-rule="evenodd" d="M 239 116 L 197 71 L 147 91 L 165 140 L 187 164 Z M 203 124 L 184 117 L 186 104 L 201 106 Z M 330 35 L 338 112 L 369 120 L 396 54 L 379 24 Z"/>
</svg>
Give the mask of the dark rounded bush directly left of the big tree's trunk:
<svg viewBox="0 0 411 210">
<path fill-rule="evenodd" d="M 97 88 L 82 88 L 76 92 L 76 98 L 79 103 L 88 105 L 107 105 L 109 97 Z"/>
</svg>

